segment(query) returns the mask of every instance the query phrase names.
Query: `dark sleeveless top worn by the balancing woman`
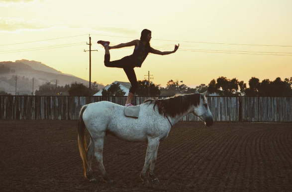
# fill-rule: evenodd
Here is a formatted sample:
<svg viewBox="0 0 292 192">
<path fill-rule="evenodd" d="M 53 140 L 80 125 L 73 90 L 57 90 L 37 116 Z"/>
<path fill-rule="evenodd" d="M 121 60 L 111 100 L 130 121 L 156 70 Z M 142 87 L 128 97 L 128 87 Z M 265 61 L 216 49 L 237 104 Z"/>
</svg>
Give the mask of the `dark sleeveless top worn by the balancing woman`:
<svg viewBox="0 0 292 192">
<path fill-rule="evenodd" d="M 143 61 L 146 59 L 147 55 L 149 53 L 148 48 L 144 46 L 142 41 L 139 41 L 139 46 L 135 46 L 133 54 L 130 56 L 133 64 L 136 67 L 141 67 Z"/>
</svg>

